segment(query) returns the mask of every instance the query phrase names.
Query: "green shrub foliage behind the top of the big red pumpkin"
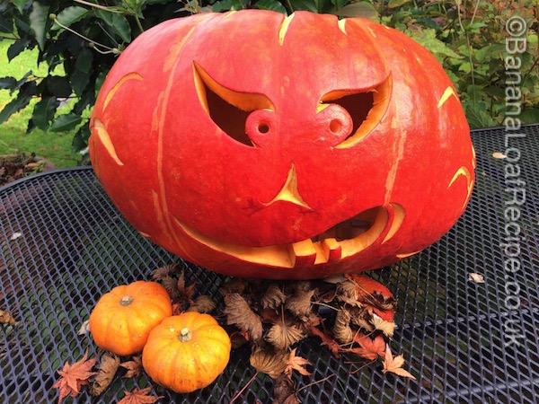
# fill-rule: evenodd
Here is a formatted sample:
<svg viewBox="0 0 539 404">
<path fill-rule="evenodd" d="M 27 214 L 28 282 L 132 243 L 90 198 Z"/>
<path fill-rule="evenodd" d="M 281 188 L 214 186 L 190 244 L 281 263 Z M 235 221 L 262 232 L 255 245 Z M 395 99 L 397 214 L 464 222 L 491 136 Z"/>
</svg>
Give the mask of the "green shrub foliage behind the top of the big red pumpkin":
<svg viewBox="0 0 539 404">
<path fill-rule="evenodd" d="M 97 92 L 119 53 L 141 32 L 159 22 L 191 13 L 243 8 L 293 13 L 308 10 L 340 17 L 366 17 L 396 28 L 429 48 L 455 83 L 472 127 L 500 125 L 506 105 L 506 22 L 526 22 L 520 118 L 539 121 L 535 0 L 0 0 L 0 37 L 13 40 L 7 59 L 37 48 L 47 75 L 29 71 L 21 80 L 0 77 L 0 90 L 13 101 L 0 111 L 0 124 L 31 103 L 26 128 L 74 131 L 75 150 L 84 149 L 88 117 Z M 61 66 L 61 68 L 60 68 Z M 61 70 L 61 72 L 60 72 Z M 68 110 L 58 110 L 68 102 Z"/>
</svg>

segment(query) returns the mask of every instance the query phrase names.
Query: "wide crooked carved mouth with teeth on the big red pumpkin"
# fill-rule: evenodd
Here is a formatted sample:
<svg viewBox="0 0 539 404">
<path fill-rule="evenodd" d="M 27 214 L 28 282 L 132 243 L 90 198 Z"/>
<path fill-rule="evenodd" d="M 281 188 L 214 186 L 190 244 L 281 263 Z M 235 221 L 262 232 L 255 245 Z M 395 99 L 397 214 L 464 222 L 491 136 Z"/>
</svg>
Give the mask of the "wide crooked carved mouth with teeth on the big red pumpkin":
<svg viewBox="0 0 539 404">
<path fill-rule="evenodd" d="M 270 267 L 296 268 L 345 259 L 375 242 L 387 242 L 404 220 L 398 204 L 376 206 L 335 224 L 323 233 L 289 244 L 246 247 L 212 239 L 174 217 L 174 222 L 192 239 L 243 261 Z"/>
</svg>

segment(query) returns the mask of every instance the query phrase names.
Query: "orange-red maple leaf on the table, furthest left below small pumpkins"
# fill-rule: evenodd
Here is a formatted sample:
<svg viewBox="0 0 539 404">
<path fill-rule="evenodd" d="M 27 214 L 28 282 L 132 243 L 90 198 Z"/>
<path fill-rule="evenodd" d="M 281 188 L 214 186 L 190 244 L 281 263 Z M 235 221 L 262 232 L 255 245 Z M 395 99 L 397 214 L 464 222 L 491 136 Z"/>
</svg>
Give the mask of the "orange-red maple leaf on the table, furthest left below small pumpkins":
<svg viewBox="0 0 539 404">
<path fill-rule="evenodd" d="M 88 359 L 88 349 L 86 349 L 80 361 L 75 362 L 75 364 L 69 364 L 66 361 L 64 368 L 57 371 L 61 377 L 52 387 L 59 390 L 58 404 L 69 395 L 76 397 L 81 391 L 81 386 L 89 383 L 88 379 L 96 374 L 96 372 L 92 372 L 96 361 L 97 358 Z"/>
</svg>

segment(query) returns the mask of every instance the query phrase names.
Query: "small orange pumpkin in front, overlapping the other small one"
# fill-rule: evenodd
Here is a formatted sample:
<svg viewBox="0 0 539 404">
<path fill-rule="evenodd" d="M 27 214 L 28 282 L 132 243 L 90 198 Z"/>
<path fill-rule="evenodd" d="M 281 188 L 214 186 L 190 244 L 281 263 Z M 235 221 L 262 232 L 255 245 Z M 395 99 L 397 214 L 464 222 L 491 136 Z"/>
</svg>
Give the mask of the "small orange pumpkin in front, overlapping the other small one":
<svg viewBox="0 0 539 404">
<path fill-rule="evenodd" d="M 207 387 L 223 373 L 231 341 L 209 314 L 184 312 L 163 320 L 142 352 L 142 365 L 152 380 L 178 393 Z"/>
</svg>

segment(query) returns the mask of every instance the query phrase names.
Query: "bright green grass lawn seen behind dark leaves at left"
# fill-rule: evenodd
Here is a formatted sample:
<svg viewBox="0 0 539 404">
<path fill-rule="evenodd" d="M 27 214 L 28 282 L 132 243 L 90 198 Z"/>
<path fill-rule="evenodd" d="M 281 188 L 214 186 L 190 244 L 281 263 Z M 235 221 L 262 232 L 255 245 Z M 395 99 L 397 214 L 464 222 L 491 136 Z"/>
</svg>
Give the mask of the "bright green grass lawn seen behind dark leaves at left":
<svg viewBox="0 0 539 404">
<path fill-rule="evenodd" d="M 47 75 L 47 65 L 37 66 L 37 48 L 24 50 L 11 62 L 7 59 L 7 49 L 11 40 L 0 40 L 0 77 L 13 76 L 21 79 L 29 70 L 34 75 Z M 10 94 L 8 90 L 0 90 L 0 110 L 13 99 L 16 93 Z M 0 125 L 0 154 L 32 154 L 35 153 L 54 162 L 58 168 L 72 167 L 81 160 L 81 155 L 73 153 L 72 141 L 75 132 L 43 133 L 34 129 L 26 135 L 28 120 L 35 101 L 24 110 L 13 114 L 10 119 Z"/>
</svg>

